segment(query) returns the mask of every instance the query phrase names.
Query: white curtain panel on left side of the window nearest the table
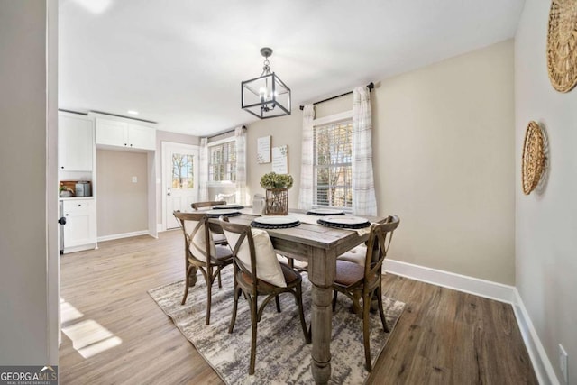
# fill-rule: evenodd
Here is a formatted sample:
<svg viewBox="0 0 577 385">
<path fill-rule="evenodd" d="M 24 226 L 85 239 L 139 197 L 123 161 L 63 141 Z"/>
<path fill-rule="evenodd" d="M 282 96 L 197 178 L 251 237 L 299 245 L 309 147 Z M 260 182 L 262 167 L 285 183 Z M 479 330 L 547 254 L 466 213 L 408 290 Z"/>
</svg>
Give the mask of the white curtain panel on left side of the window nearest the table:
<svg viewBox="0 0 577 385">
<path fill-rule="evenodd" d="M 303 144 L 300 166 L 300 190 L 298 208 L 305 210 L 313 206 L 313 120 L 315 106 L 305 105 L 303 109 Z"/>
</svg>

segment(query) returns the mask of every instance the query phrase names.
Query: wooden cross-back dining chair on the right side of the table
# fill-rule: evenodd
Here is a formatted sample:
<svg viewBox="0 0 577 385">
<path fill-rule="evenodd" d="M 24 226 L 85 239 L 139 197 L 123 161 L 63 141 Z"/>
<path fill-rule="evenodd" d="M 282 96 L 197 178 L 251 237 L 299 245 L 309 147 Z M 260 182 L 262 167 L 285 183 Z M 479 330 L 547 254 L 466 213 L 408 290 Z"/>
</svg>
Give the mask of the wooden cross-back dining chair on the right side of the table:
<svg viewBox="0 0 577 385">
<path fill-rule="evenodd" d="M 385 312 L 382 307 L 382 262 L 385 261 L 390 241 L 399 222 L 398 216 L 392 215 L 380 224 L 371 225 L 371 234 L 369 234 L 369 240 L 367 241 L 363 265 L 340 259 L 336 261 L 336 275 L 333 283 L 333 311 L 336 307 L 337 293 L 343 293 L 353 300 L 354 312 L 358 316 L 362 316 L 362 342 L 364 344 L 367 371 L 372 371 L 369 311 L 373 295 L 377 297 L 383 330 L 385 333 L 389 333 Z M 360 304 L 361 298 L 362 307 Z"/>
</svg>

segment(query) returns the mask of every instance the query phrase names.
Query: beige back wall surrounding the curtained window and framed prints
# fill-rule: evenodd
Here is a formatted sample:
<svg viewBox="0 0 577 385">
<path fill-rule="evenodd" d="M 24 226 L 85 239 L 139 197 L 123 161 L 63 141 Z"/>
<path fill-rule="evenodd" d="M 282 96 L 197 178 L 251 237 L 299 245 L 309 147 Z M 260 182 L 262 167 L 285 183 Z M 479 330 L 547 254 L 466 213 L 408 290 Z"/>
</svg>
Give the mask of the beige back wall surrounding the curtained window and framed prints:
<svg viewBox="0 0 577 385">
<path fill-rule="evenodd" d="M 375 79 L 378 80 L 378 79 Z M 515 280 L 513 41 L 380 81 L 371 92 L 380 215 L 398 214 L 390 258 L 512 285 Z M 344 96 L 316 116 L 352 109 Z M 289 145 L 298 204 L 302 113 L 250 124 L 248 188 L 262 192 L 256 141 Z"/>
</svg>

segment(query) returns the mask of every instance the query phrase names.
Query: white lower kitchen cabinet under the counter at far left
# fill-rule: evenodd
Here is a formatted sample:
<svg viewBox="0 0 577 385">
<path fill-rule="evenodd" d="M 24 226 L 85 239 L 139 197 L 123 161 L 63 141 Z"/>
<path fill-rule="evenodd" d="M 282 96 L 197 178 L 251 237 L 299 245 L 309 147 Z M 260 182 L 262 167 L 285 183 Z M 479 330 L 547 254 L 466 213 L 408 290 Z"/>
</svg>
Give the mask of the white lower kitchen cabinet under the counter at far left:
<svg viewBox="0 0 577 385">
<path fill-rule="evenodd" d="M 93 198 L 69 199 L 62 202 L 66 218 L 64 252 L 77 252 L 96 246 L 96 206 Z"/>
</svg>

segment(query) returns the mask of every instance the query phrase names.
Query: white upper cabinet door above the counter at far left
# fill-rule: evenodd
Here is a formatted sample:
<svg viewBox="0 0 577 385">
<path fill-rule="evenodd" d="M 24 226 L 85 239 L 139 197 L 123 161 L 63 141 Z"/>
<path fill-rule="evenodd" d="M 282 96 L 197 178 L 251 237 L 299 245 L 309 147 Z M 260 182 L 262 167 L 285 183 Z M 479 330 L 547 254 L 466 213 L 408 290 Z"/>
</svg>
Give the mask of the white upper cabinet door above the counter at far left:
<svg viewBox="0 0 577 385">
<path fill-rule="evenodd" d="M 59 115 L 59 170 L 92 171 L 93 121 L 82 116 Z"/>
</svg>

